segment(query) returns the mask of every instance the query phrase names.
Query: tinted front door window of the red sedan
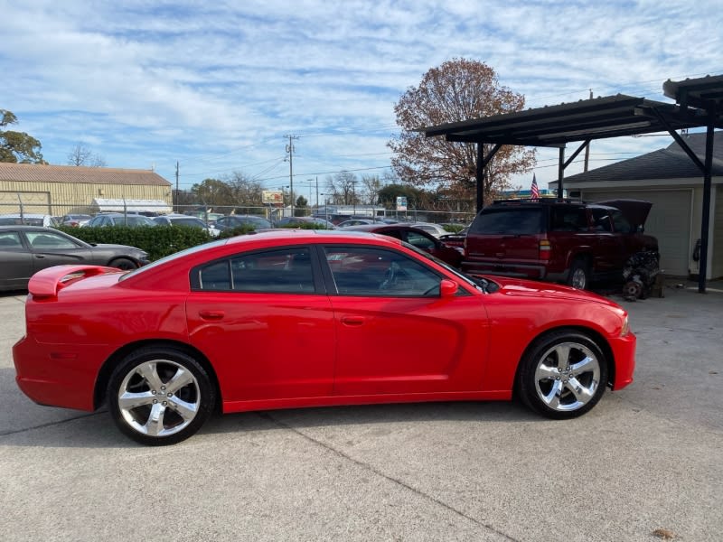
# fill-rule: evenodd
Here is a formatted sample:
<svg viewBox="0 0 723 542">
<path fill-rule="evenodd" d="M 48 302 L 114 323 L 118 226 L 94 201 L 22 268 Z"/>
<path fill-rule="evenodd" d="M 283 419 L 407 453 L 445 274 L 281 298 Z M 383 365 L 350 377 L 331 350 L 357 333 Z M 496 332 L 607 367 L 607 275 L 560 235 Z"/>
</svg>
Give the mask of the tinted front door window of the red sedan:
<svg viewBox="0 0 723 542">
<path fill-rule="evenodd" d="M 397 252 L 382 248 L 327 247 L 325 254 L 339 294 L 393 297 L 439 294 L 440 277 Z"/>
</svg>

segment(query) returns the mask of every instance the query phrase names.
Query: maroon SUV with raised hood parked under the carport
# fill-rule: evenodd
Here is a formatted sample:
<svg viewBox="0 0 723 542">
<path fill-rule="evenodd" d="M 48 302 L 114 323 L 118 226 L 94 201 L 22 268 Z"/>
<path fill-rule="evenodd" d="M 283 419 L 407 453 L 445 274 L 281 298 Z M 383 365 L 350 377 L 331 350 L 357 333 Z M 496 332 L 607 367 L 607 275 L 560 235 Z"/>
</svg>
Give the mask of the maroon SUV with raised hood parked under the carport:
<svg viewBox="0 0 723 542">
<path fill-rule="evenodd" d="M 462 270 L 520 276 L 587 288 L 597 279 L 622 279 L 628 259 L 658 241 L 643 234 L 652 204 L 557 200 L 495 201 L 474 218 Z"/>
</svg>

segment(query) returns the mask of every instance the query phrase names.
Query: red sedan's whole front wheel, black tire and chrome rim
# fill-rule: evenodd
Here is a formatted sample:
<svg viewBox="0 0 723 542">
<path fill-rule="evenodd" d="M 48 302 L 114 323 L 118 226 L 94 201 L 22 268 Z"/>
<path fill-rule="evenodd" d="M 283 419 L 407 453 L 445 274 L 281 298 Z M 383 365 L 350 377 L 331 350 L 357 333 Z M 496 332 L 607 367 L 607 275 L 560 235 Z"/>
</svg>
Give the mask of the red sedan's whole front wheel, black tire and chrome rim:
<svg viewBox="0 0 723 542">
<path fill-rule="evenodd" d="M 542 416 L 568 419 L 596 405 L 607 385 L 607 360 L 582 332 L 559 330 L 540 337 L 525 352 L 517 391 Z"/>
</svg>

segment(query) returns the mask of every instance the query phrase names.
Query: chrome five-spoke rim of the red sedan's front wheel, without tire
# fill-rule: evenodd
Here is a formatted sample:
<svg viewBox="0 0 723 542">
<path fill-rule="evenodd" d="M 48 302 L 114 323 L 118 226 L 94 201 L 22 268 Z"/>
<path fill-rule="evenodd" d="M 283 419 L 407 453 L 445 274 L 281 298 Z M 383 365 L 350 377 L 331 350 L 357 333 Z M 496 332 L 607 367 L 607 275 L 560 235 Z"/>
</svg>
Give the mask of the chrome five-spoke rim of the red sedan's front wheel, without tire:
<svg viewBox="0 0 723 542">
<path fill-rule="evenodd" d="M 600 386 L 600 360 L 578 342 L 560 342 L 540 357 L 535 368 L 540 400 L 557 412 L 586 406 Z"/>
</svg>

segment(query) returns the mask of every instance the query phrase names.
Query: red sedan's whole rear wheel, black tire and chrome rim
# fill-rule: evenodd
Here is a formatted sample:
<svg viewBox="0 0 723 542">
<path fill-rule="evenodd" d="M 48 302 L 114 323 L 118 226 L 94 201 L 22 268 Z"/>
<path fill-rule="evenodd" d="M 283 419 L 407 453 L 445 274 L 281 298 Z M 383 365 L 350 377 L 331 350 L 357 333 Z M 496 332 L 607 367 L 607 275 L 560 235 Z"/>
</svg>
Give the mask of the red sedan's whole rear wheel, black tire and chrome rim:
<svg viewBox="0 0 723 542">
<path fill-rule="evenodd" d="M 108 380 L 108 410 L 138 443 L 179 443 L 211 414 L 216 391 L 201 364 L 180 350 L 148 347 L 122 360 Z"/>
</svg>

